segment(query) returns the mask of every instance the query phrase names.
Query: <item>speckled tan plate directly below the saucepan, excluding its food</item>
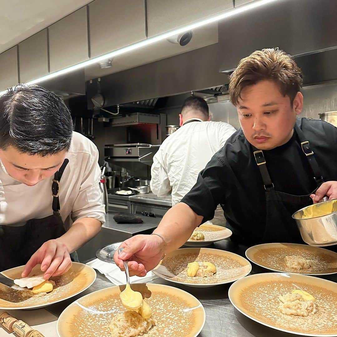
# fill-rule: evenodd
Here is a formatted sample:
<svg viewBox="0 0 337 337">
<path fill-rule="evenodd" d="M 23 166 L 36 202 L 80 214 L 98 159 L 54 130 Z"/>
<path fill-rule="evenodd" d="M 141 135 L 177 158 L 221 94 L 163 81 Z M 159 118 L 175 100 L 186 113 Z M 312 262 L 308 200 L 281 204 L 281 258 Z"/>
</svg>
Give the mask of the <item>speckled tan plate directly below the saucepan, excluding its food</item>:
<svg viewBox="0 0 337 337">
<path fill-rule="evenodd" d="M 285 265 L 284 258 L 298 255 L 312 261 L 310 268 L 296 270 Z M 258 266 L 276 271 L 305 275 L 337 273 L 337 253 L 324 248 L 294 243 L 265 243 L 246 250 L 247 258 Z"/>
</svg>

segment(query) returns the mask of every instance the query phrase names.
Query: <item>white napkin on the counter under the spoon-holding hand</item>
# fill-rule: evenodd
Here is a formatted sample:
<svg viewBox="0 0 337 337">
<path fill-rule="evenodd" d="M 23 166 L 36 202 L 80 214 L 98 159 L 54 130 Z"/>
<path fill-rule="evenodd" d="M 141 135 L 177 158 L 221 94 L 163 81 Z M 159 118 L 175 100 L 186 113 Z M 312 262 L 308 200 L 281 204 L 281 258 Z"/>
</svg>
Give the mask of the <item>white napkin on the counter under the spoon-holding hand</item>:
<svg viewBox="0 0 337 337">
<path fill-rule="evenodd" d="M 122 272 L 115 264 L 101 261 L 96 258 L 87 263 L 88 266 L 97 269 L 100 273 L 104 274 L 112 283 L 121 285 L 126 283 L 125 272 Z M 158 276 L 152 272 L 148 272 L 144 277 L 131 276 L 130 283 L 145 283 L 154 280 Z"/>
</svg>

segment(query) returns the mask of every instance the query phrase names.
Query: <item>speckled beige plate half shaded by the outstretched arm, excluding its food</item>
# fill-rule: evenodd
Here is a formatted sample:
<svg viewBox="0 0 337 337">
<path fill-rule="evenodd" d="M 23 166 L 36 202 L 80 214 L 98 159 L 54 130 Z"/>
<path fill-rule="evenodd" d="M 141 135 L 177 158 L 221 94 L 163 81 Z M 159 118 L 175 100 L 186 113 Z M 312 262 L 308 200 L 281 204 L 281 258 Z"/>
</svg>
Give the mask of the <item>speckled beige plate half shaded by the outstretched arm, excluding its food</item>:
<svg viewBox="0 0 337 337">
<path fill-rule="evenodd" d="M 210 277 L 187 276 L 187 264 L 193 261 L 213 263 L 217 269 L 216 274 Z M 248 275 L 251 268 L 251 264 L 244 257 L 225 250 L 181 248 L 167 254 L 153 272 L 171 282 L 192 287 L 212 287 L 236 281 Z"/>
</svg>

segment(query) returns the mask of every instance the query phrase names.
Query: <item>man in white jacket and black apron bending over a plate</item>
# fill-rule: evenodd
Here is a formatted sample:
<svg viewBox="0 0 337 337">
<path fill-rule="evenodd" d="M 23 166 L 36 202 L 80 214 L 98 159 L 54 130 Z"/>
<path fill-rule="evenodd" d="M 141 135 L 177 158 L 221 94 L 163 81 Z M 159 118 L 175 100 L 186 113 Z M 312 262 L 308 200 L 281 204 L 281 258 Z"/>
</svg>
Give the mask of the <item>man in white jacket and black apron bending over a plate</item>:
<svg viewBox="0 0 337 337">
<path fill-rule="evenodd" d="M 37 85 L 0 97 L 0 271 L 65 273 L 105 222 L 96 146 L 64 102 Z"/>
</svg>

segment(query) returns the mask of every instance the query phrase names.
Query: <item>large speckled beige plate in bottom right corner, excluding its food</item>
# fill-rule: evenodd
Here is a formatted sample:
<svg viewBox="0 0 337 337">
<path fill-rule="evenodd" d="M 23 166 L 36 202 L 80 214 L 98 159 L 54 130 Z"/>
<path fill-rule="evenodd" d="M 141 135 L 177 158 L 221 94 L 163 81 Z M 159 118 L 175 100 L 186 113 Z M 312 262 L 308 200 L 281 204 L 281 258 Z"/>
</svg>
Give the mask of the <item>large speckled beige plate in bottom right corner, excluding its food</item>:
<svg viewBox="0 0 337 337">
<path fill-rule="evenodd" d="M 313 295 L 317 312 L 301 317 L 278 311 L 279 295 L 293 289 L 302 289 Z M 335 282 L 300 274 L 255 274 L 233 283 L 228 297 L 245 316 L 273 329 L 301 336 L 337 336 Z"/>
</svg>

